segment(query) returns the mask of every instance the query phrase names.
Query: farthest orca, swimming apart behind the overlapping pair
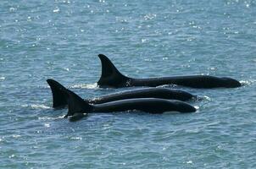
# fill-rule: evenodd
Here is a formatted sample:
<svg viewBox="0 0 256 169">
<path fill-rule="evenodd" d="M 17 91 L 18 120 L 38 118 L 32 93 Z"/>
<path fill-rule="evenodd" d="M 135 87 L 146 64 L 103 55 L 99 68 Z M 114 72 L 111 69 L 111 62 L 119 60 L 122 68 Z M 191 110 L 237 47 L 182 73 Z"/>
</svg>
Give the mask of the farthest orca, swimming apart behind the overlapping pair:
<svg viewBox="0 0 256 169">
<path fill-rule="evenodd" d="M 209 75 L 187 75 L 187 76 L 173 76 L 173 77 L 160 77 L 148 79 L 134 79 L 121 74 L 115 68 L 108 57 L 99 54 L 98 57 L 102 63 L 102 74 L 97 81 L 97 85 L 103 88 L 120 88 L 131 86 L 149 86 L 156 87 L 159 85 L 181 85 L 191 88 L 236 88 L 240 87 L 241 83 L 236 79 L 219 78 Z"/>
</svg>

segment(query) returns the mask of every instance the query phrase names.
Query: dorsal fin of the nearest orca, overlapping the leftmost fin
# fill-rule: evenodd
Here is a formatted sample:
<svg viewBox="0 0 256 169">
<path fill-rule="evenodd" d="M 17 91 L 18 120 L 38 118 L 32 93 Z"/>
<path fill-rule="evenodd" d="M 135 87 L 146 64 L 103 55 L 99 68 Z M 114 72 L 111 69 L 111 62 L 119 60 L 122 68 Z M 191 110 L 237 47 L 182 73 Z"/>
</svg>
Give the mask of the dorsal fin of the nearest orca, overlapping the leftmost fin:
<svg viewBox="0 0 256 169">
<path fill-rule="evenodd" d="M 64 95 L 66 95 L 69 112 L 65 117 L 72 117 L 75 114 L 84 114 L 91 112 L 93 109 L 92 105 L 89 105 L 79 95 L 76 95 L 73 91 L 65 89 Z"/>
</svg>

